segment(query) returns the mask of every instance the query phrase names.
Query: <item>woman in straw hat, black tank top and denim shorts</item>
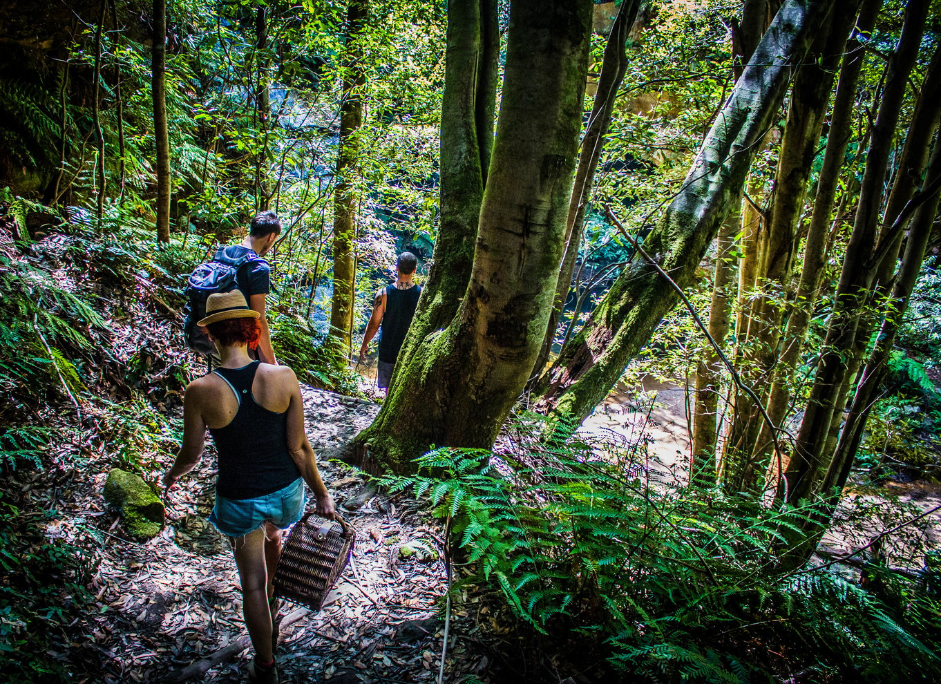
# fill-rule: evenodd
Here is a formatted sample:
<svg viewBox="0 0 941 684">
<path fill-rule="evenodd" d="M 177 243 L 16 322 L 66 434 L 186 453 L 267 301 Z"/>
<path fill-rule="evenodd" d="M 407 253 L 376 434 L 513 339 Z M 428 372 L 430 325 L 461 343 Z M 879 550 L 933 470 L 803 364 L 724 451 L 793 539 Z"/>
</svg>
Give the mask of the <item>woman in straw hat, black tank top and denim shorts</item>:
<svg viewBox="0 0 941 684">
<path fill-rule="evenodd" d="M 242 581 L 243 609 L 255 657 L 248 680 L 278 682 L 272 576 L 281 531 L 304 512 L 304 483 L 322 516 L 335 513 L 304 433 L 304 406 L 294 371 L 248 358 L 257 344 L 258 312 L 238 290 L 211 294 L 199 321 L 215 341 L 222 362 L 186 387 L 183 445 L 164 475 L 169 488 L 202 455 L 206 430 L 215 439 L 218 480 L 209 520 L 229 537 Z"/>
</svg>

